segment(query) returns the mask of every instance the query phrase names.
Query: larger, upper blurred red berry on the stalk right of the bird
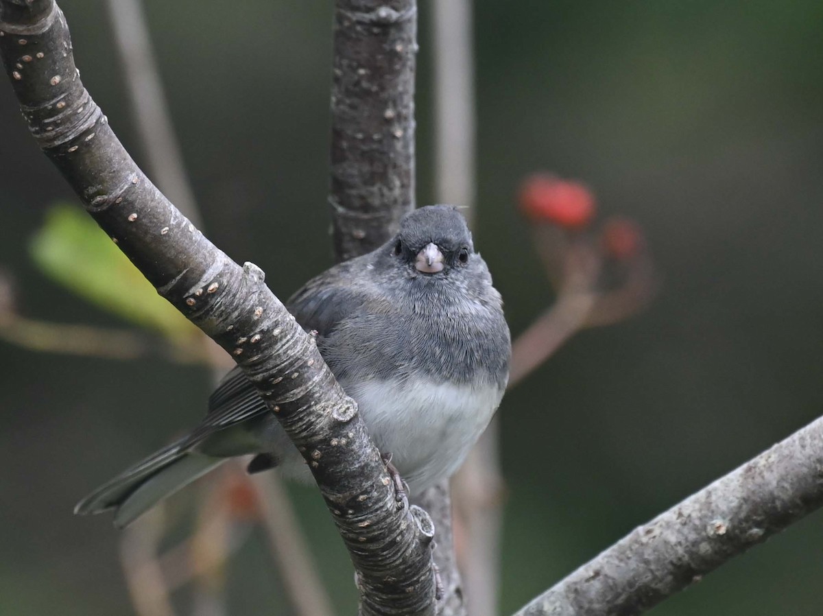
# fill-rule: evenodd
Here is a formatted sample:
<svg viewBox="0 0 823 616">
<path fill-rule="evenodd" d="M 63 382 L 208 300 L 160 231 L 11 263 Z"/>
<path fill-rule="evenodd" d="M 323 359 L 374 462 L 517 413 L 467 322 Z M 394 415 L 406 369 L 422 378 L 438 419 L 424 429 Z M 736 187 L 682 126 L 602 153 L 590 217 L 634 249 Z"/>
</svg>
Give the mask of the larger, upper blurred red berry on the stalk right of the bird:
<svg viewBox="0 0 823 616">
<path fill-rule="evenodd" d="M 520 189 L 520 209 L 532 221 L 582 229 L 594 217 L 594 196 L 579 182 L 532 175 Z"/>
</svg>

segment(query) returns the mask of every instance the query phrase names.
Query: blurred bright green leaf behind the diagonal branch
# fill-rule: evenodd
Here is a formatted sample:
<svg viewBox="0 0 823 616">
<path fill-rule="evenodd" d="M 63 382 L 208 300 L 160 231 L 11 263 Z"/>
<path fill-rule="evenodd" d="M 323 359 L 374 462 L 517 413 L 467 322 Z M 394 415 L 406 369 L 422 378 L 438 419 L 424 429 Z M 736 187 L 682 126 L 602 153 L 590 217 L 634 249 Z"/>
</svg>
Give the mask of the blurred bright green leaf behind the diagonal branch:
<svg viewBox="0 0 823 616">
<path fill-rule="evenodd" d="M 44 225 L 31 238 L 30 254 L 49 278 L 122 319 L 173 341 L 197 332 L 75 205 L 56 203 L 49 208 Z"/>
</svg>

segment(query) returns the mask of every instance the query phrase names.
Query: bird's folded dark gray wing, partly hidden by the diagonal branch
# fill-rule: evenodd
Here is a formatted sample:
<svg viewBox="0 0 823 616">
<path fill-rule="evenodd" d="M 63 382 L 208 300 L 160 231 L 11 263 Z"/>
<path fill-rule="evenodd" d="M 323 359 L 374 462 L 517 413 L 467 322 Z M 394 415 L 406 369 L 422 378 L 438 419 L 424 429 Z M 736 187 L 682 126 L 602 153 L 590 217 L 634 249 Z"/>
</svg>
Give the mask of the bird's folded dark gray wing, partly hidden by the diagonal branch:
<svg viewBox="0 0 823 616">
<path fill-rule="evenodd" d="M 351 276 L 356 271 L 352 265 L 347 261 L 328 269 L 291 296 L 286 306 L 303 329 L 315 330 L 321 338 L 328 336 L 337 324 L 373 299 L 368 292 L 370 285 L 357 284 L 356 277 Z M 202 441 L 213 432 L 267 412 L 266 403 L 251 381 L 235 367 L 212 392 L 207 416 L 192 432 L 190 442 Z"/>
</svg>

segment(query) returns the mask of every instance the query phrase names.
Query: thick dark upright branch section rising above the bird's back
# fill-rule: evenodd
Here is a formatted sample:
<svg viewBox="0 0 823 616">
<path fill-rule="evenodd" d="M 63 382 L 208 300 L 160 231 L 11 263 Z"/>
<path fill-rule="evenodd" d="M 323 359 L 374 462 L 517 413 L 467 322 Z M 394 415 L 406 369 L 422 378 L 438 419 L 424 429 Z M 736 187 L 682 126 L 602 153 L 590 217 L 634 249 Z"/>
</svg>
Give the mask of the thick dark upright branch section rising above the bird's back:
<svg viewBox="0 0 823 616">
<path fill-rule="evenodd" d="M 337 0 L 332 207 L 338 261 L 374 250 L 415 204 L 416 0 Z"/>
</svg>

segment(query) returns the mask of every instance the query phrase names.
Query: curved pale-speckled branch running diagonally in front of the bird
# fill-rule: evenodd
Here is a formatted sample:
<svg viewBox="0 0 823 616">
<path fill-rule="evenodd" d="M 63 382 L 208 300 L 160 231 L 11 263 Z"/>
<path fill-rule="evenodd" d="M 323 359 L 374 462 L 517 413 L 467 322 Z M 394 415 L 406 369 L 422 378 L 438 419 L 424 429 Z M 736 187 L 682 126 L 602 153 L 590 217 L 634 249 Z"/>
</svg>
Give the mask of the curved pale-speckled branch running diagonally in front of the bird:
<svg viewBox="0 0 823 616">
<path fill-rule="evenodd" d="M 0 0 L 0 54 L 29 128 L 100 227 L 243 366 L 303 452 L 357 572 L 362 614 L 433 614 L 431 523 L 398 509 L 379 452 L 306 334 L 147 180 L 80 80 L 53 0 Z"/>
</svg>

